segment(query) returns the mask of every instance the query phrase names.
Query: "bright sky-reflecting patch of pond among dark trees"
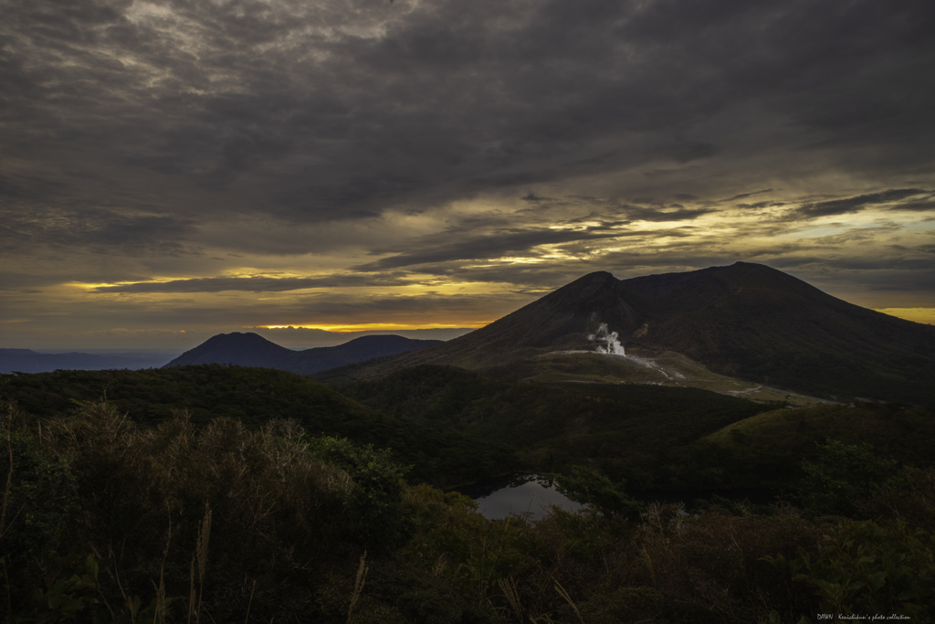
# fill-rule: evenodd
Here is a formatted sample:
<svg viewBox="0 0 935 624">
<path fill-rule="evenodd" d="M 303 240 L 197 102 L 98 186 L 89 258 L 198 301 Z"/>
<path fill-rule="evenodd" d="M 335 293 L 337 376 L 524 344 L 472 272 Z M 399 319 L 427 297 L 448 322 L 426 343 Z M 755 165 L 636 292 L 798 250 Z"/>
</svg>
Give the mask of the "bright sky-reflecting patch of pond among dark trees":
<svg viewBox="0 0 935 624">
<path fill-rule="evenodd" d="M 458 487 L 458 492 L 469 496 L 480 505 L 484 517 L 499 520 L 510 514 L 529 512 L 539 520 L 548 514 L 548 506 L 556 505 L 568 511 L 582 505 L 569 501 L 555 489 L 554 482 L 541 474 L 511 474 L 471 486 Z"/>
</svg>

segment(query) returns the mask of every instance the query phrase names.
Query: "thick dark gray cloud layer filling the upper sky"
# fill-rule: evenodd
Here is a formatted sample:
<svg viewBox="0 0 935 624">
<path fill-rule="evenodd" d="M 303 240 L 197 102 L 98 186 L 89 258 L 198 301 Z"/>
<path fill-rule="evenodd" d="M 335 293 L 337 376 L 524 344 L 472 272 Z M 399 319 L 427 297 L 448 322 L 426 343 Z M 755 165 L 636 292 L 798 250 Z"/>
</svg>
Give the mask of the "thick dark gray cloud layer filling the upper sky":
<svg viewBox="0 0 935 624">
<path fill-rule="evenodd" d="M 336 219 L 439 187 L 695 163 L 743 146 L 705 128 L 742 107 L 841 167 L 933 151 L 924 0 L 19 0 L 4 13 L 7 156 L 84 193 L 40 161 L 98 167 L 112 192 L 151 186 L 166 211 L 166 182 L 208 190 L 199 210 Z"/>
</svg>

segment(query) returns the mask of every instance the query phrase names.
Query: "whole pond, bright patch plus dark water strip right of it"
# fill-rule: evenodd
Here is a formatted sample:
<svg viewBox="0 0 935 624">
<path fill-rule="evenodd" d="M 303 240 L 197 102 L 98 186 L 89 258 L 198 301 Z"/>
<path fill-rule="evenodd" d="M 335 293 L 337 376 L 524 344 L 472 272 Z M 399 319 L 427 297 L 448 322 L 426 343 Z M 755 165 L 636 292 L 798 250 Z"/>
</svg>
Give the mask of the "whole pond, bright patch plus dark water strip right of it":
<svg viewBox="0 0 935 624">
<path fill-rule="evenodd" d="M 507 476 L 488 479 L 482 482 L 455 488 L 455 491 L 477 501 L 484 517 L 498 520 L 510 514 L 523 514 L 529 512 L 532 518 L 539 520 L 548 514 L 549 505 L 557 505 L 568 511 L 576 511 L 582 505 L 569 501 L 566 496 L 555 489 L 554 482 L 549 475 L 516 473 Z M 687 491 L 631 491 L 629 496 L 637 501 L 650 502 L 684 502 L 685 507 L 691 507 L 694 501 L 711 499 L 713 494 L 723 496 L 731 501 L 749 499 L 756 504 L 770 504 L 774 501 L 776 490 L 769 489 L 732 489 L 722 491 L 687 490 Z"/>
</svg>

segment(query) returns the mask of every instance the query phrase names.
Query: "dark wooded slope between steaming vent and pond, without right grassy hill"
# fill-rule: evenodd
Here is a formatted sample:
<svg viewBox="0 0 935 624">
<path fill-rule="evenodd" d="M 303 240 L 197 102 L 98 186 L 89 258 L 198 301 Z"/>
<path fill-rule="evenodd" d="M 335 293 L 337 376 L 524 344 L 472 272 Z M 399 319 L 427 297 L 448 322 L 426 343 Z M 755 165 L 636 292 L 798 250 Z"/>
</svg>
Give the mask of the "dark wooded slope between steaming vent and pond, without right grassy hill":
<svg viewBox="0 0 935 624">
<path fill-rule="evenodd" d="M 589 458 L 640 489 L 721 486 L 685 447 L 767 407 L 694 388 L 510 384 L 454 367 L 420 366 L 340 391 L 401 420 L 509 441 L 525 468 Z"/>
</svg>

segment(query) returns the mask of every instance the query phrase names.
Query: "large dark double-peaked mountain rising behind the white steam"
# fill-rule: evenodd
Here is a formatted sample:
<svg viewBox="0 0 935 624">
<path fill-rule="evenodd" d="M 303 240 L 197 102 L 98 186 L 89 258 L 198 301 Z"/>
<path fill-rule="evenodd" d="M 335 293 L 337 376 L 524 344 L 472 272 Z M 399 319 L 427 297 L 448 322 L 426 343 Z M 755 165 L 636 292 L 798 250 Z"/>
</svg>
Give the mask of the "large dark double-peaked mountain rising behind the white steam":
<svg viewBox="0 0 935 624">
<path fill-rule="evenodd" d="M 590 273 L 487 327 L 353 371 L 419 364 L 502 369 L 594 350 L 600 324 L 625 346 L 675 351 L 720 374 L 802 392 L 935 402 L 935 327 L 831 297 L 780 270 L 729 267 L 617 280 Z"/>
</svg>

